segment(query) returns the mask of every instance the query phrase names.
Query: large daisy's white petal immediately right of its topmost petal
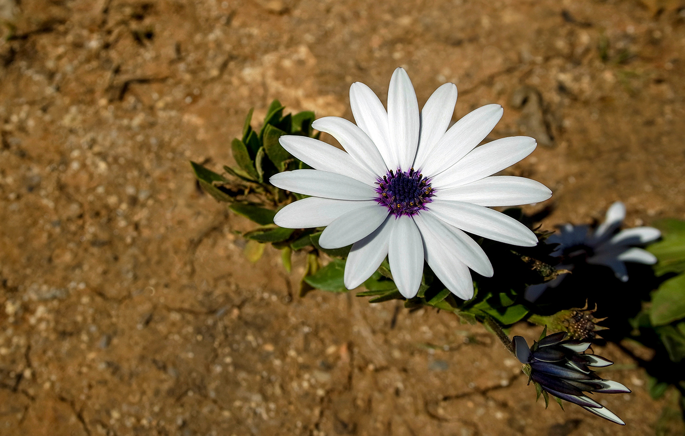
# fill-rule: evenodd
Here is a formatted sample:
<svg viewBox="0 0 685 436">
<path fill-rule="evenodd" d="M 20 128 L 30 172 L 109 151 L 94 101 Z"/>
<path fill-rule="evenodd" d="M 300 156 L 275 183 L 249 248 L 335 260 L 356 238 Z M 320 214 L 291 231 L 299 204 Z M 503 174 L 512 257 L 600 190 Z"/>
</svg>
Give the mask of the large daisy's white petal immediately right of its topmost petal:
<svg viewBox="0 0 685 436">
<path fill-rule="evenodd" d="M 419 150 L 416 152 L 416 159 L 414 159 L 414 168 L 423 166 L 438 140 L 447 131 L 456 102 L 457 87 L 455 84 L 444 84 L 436 89 L 426 104 L 423 105 Z"/>
</svg>

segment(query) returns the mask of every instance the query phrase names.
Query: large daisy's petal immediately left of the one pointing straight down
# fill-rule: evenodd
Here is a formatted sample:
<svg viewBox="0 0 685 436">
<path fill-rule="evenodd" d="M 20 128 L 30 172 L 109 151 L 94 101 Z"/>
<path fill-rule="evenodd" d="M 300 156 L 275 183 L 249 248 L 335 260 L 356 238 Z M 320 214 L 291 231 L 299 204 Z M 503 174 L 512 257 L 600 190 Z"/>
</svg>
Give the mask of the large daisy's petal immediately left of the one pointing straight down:
<svg viewBox="0 0 685 436">
<path fill-rule="evenodd" d="M 371 277 L 388 255 L 390 233 L 395 216 L 388 214 L 385 221 L 371 234 L 355 242 L 345 263 L 345 287 L 354 289 Z"/>
</svg>

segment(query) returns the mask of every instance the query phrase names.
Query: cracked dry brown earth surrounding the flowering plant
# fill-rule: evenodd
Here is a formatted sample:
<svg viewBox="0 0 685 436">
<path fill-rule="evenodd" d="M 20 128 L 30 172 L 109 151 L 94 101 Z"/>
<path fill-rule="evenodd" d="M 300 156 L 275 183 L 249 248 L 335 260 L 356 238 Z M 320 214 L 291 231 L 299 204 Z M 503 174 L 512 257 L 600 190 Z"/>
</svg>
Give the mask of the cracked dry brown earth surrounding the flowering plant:
<svg viewBox="0 0 685 436">
<path fill-rule="evenodd" d="M 519 364 L 448 313 L 297 296 L 202 194 L 250 107 L 351 117 L 396 66 L 488 140 L 538 150 L 544 222 L 685 218 L 685 12 L 670 0 L 0 0 L 0 434 L 649 435 L 666 404 L 618 348 L 601 399 L 545 411 Z M 538 211 L 545 205 L 529 207 Z M 539 329 L 516 326 L 529 341 Z M 677 433 L 673 433 L 677 434 Z"/>
</svg>

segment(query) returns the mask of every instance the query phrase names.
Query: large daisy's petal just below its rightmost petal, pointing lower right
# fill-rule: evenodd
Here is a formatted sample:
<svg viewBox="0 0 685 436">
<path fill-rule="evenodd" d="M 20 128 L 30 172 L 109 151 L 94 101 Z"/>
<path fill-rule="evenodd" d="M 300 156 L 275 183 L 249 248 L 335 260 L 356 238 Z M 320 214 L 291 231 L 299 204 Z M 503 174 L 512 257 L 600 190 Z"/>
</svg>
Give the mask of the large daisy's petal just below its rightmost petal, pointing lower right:
<svg viewBox="0 0 685 436">
<path fill-rule="evenodd" d="M 427 209 L 440 220 L 484 238 L 521 246 L 538 243 L 535 233 L 521 222 L 487 207 L 457 201 L 434 200 Z"/>
</svg>

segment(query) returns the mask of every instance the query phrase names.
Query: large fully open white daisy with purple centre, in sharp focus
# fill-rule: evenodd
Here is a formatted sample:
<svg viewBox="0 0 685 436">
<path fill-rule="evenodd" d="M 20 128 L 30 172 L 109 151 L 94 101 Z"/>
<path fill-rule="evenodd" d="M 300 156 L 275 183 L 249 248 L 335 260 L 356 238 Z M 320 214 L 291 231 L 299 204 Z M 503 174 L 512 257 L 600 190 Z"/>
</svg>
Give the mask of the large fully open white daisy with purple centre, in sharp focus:
<svg viewBox="0 0 685 436">
<path fill-rule="evenodd" d="M 314 170 L 281 172 L 273 185 L 310 195 L 281 209 L 274 222 L 290 229 L 327 226 L 319 244 L 353 244 L 345 286 L 361 285 L 388 256 L 399 292 L 416 296 L 423 260 L 453 294 L 473 296 L 469 268 L 485 277 L 493 266 L 466 232 L 507 244 L 534 246 L 534 233 L 488 206 L 544 201 L 549 189 L 523 177 L 494 176 L 536 146 L 514 137 L 476 146 L 495 127 L 502 107 L 486 105 L 449 127 L 457 99 L 454 84 L 440 86 L 419 112 L 414 87 L 402 68 L 390 79 L 388 111 L 371 88 L 350 88 L 357 124 L 329 116 L 312 127 L 332 135 L 345 151 L 304 136 L 280 143 Z"/>
</svg>

